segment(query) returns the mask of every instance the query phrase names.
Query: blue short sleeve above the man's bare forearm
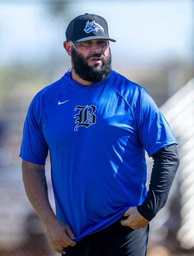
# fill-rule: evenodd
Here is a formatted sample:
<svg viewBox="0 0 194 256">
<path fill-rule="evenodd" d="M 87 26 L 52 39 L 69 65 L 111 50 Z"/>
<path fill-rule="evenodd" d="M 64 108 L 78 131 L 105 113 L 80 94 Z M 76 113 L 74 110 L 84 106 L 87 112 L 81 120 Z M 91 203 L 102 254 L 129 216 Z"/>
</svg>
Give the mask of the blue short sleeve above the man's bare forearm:
<svg viewBox="0 0 194 256">
<path fill-rule="evenodd" d="M 47 154 L 48 146 L 41 129 L 41 108 L 35 97 L 25 119 L 19 156 L 23 160 L 45 165 Z"/>
</svg>

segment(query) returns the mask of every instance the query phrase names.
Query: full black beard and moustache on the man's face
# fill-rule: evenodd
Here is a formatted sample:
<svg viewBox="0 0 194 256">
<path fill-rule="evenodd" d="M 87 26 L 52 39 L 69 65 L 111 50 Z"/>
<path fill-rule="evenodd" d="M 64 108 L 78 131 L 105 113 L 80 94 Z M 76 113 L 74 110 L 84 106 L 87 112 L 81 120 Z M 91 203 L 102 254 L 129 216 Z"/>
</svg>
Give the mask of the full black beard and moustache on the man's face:
<svg viewBox="0 0 194 256">
<path fill-rule="evenodd" d="M 99 68 L 99 64 L 90 67 L 88 65 L 88 59 L 92 57 L 101 57 L 102 66 Z M 93 53 L 86 59 L 81 53 L 72 46 L 72 61 L 74 64 L 75 73 L 85 81 L 95 83 L 104 80 L 110 75 L 111 72 L 111 51 L 109 47 L 109 55 L 104 56 L 102 53 Z"/>
</svg>

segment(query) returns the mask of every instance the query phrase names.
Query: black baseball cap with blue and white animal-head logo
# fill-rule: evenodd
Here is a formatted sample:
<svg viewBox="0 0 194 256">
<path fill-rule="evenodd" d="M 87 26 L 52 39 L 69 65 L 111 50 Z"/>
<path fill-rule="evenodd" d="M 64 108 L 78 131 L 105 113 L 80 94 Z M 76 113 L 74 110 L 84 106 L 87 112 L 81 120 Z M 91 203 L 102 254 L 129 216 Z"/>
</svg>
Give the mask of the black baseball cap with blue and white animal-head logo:
<svg viewBox="0 0 194 256">
<path fill-rule="evenodd" d="M 94 39 L 112 39 L 108 35 L 108 25 L 104 18 L 95 14 L 85 13 L 74 18 L 68 25 L 66 32 L 66 41 L 84 42 Z"/>
</svg>

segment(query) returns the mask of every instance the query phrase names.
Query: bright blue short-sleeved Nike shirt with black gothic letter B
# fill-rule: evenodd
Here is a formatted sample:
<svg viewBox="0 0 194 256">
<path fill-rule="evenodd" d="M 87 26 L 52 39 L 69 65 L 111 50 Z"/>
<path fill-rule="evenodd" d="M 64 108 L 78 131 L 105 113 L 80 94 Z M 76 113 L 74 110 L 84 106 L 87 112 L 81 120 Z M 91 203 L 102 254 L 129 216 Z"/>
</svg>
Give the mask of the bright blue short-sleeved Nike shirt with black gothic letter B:
<svg viewBox="0 0 194 256">
<path fill-rule="evenodd" d="M 20 157 L 44 165 L 50 151 L 56 215 L 79 241 L 145 200 L 145 150 L 177 142 L 143 87 L 113 70 L 85 86 L 71 71 L 32 100 Z"/>
</svg>

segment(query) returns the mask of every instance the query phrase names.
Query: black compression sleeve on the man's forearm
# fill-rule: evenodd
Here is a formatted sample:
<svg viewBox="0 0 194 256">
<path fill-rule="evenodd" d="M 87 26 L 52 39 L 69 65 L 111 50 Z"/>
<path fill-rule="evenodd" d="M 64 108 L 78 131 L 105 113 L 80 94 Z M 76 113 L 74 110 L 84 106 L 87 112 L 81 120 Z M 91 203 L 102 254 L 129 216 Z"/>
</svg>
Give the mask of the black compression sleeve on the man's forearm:
<svg viewBox="0 0 194 256">
<path fill-rule="evenodd" d="M 163 147 L 152 157 L 154 164 L 147 198 L 137 206 L 138 212 L 148 221 L 165 205 L 179 165 L 175 144 Z"/>
</svg>

